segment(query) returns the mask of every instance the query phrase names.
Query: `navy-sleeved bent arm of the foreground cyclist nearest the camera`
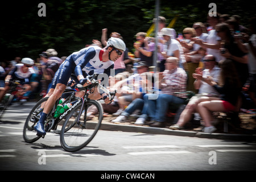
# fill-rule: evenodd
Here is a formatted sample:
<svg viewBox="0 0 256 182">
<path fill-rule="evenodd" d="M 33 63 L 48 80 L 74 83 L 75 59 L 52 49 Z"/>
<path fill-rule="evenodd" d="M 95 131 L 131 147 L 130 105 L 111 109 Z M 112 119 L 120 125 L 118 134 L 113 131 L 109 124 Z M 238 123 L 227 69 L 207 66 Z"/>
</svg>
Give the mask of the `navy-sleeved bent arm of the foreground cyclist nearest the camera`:
<svg viewBox="0 0 256 182">
<path fill-rule="evenodd" d="M 96 51 L 94 48 L 89 48 L 83 59 L 80 61 L 79 64 L 76 65 L 75 68 L 75 75 L 77 77 L 78 80 L 84 79 L 84 76 L 82 75 L 82 68 L 85 67 L 85 65 L 91 60 L 93 59 L 93 57 L 96 55 Z"/>
</svg>

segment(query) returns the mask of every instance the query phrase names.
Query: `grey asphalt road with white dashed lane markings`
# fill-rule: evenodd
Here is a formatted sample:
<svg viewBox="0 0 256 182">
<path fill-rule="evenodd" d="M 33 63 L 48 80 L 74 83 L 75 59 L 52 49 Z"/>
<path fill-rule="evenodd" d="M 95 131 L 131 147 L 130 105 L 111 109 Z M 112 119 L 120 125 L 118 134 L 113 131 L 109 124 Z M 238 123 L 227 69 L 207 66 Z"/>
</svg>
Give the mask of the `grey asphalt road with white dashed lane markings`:
<svg viewBox="0 0 256 182">
<path fill-rule="evenodd" d="M 0 121 L 1 170 L 255 170 L 256 143 L 122 131 L 98 131 L 87 147 L 64 151 L 59 135 L 26 143 L 24 121 L 34 103 L 14 104 Z M 108 177 L 102 173 L 101 177 Z M 100 176 L 98 176 L 100 177 Z M 118 177 L 118 176 L 112 176 Z M 119 176 L 127 177 L 130 176 Z M 144 176 L 145 177 L 145 176 Z"/>
</svg>

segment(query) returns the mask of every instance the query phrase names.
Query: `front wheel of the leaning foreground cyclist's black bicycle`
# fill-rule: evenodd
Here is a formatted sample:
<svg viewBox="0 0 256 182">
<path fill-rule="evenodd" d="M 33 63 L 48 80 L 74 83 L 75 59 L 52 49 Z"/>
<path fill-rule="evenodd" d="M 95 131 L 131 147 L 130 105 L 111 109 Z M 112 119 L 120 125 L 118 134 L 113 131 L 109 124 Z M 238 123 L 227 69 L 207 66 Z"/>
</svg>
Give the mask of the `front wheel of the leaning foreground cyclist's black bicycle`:
<svg viewBox="0 0 256 182">
<path fill-rule="evenodd" d="M 102 118 L 103 109 L 98 101 L 89 100 L 84 106 L 80 103 L 72 109 L 60 133 L 60 143 L 64 150 L 75 152 L 84 148 L 97 134 Z"/>
</svg>

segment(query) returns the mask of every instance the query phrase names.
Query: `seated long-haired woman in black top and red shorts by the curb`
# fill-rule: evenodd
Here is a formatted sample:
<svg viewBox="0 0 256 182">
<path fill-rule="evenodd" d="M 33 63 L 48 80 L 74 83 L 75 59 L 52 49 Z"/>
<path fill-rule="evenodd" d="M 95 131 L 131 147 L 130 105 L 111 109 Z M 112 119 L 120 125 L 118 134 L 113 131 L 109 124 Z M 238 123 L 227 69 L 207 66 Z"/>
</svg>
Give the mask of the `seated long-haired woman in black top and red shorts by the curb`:
<svg viewBox="0 0 256 182">
<path fill-rule="evenodd" d="M 220 97 L 213 97 L 210 101 L 200 102 L 198 104 L 198 110 L 201 117 L 204 120 L 205 133 L 213 133 L 216 128 L 212 126 L 213 121 L 212 112 L 214 111 L 235 111 L 238 96 L 240 95 L 241 85 L 238 78 L 236 67 L 232 60 L 221 61 L 221 81 L 223 86 L 212 80 L 212 78 L 205 78 L 205 82 L 210 86 L 213 86 L 220 93 Z"/>
</svg>

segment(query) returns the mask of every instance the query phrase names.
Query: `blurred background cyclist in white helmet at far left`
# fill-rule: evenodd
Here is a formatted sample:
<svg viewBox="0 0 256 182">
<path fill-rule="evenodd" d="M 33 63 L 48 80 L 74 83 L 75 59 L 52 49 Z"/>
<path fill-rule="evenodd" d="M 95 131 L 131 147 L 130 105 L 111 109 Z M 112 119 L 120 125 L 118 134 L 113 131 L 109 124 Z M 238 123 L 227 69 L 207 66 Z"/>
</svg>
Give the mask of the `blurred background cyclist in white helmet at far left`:
<svg viewBox="0 0 256 182">
<path fill-rule="evenodd" d="M 28 97 L 30 94 L 31 86 L 30 86 L 30 80 L 32 74 L 35 73 L 32 66 L 34 65 L 34 60 L 30 59 L 29 57 L 25 57 L 22 59 L 21 63 L 16 64 L 14 68 L 9 72 L 9 75 L 6 76 L 5 82 L 6 86 L 3 90 L 0 92 L 0 101 L 2 101 L 3 96 L 5 96 L 6 92 L 10 89 L 10 83 L 9 81 L 13 80 L 19 80 L 20 84 L 23 85 L 24 90 L 20 90 L 18 93 L 16 93 L 16 96 L 18 97 Z M 26 93 L 26 96 L 25 94 Z"/>
</svg>

